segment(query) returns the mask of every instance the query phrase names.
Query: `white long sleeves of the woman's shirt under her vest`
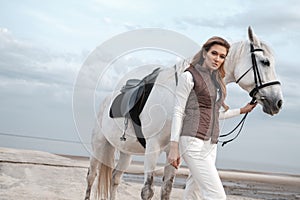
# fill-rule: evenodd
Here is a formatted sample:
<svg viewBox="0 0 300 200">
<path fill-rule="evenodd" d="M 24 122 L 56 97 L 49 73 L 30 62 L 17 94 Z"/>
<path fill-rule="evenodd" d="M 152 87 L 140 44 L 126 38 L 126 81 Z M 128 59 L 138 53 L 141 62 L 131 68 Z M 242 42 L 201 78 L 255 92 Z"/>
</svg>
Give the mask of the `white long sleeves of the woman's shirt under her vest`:
<svg viewBox="0 0 300 200">
<path fill-rule="evenodd" d="M 175 91 L 175 105 L 171 127 L 171 141 L 179 141 L 185 106 L 193 87 L 194 80 L 192 74 L 189 71 L 182 73 L 178 77 L 178 85 Z M 219 119 L 227 119 L 230 117 L 238 116 L 240 114 L 240 109 L 229 109 L 227 111 L 219 112 Z"/>
</svg>

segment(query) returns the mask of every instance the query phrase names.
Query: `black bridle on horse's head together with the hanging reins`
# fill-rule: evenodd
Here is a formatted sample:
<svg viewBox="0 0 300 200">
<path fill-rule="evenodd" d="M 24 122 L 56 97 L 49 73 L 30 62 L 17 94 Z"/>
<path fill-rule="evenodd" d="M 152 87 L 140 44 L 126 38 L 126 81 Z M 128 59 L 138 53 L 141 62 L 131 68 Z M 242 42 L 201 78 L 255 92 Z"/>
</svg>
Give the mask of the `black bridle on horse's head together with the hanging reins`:
<svg viewBox="0 0 300 200">
<path fill-rule="evenodd" d="M 259 92 L 260 89 L 262 88 L 265 88 L 265 87 L 268 87 L 268 86 L 271 86 L 271 85 L 280 85 L 280 82 L 279 81 L 270 81 L 270 82 L 267 82 L 267 83 L 263 83 L 262 80 L 261 80 L 261 76 L 259 74 L 259 70 L 258 70 L 258 66 L 257 66 L 257 62 L 256 62 L 256 56 L 255 56 L 255 52 L 256 51 L 264 51 L 263 49 L 261 48 L 254 48 L 254 45 L 252 43 L 250 43 L 250 53 L 251 53 L 251 61 L 252 61 L 252 66 L 244 73 L 240 76 L 240 78 L 237 79 L 236 83 L 239 83 L 240 80 L 252 69 L 253 70 L 253 73 L 254 73 L 254 82 L 255 82 L 255 87 L 249 92 L 249 95 L 250 97 L 252 97 L 252 100 L 250 102 L 250 104 L 254 104 L 256 102 L 256 97 L 255 95 Z M 239 126 L 240 127 L 240 130 L 238 132 L 238 134 L 233 137 L 232 139 L 229 139 L 229 140 L 226 140 L 226 141 L 219 141 L 219 142 L 222 142 L 222 146 L 224 146 L 225 144 L 227 144 L 228 142 L 231 142 L 233 141 L 234 139 L 236 139 L 239 134 L 241 133 L 241 130 L 244 126 L 244 123 L 245 123 L 245 120 L 246 120 L 246 117 L 247 117 L 248 113 L 246 113 L 244 115 L 244 117 L 241 119 L 241 121 L 238 123 L 238 125 L 232 130 L 230 131 L 229 133 L 227 134 L 223 134 L 223 135 L 220 135 L 220 137 L 226 137 L 230 134 L 232 134 Z"/>
</svg>

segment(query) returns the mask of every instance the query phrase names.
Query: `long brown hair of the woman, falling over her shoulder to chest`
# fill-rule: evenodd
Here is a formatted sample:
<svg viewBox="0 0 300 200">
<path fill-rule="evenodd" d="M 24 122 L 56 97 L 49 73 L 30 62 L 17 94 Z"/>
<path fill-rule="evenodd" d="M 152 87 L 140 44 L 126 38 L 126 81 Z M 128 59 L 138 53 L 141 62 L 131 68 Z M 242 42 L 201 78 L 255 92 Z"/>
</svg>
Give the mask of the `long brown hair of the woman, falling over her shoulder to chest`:
<svg viewBox="0 0 300 200">
<path fill-rule="evenodd" d="M 203 57 L 203 54 L 204 52 L 208 52 L 209 49 L 215 45 L 215 44 L 218 44 L 218 45 L 221 45 L 223 47 L 226 48 L 227 50 L 227 54 L 229 52 L 229 49 L 230 49 L 230 44 L 223 38 L 221 37 L 217 37 L 217 36 L 214 36 L 214 37 L 211 37 L 210 39 L 208 39 L 202 46 L 201 50 L 193 57 L 193 60 L 191 62 L 191 65 L 192 66 L 196 66 L 196 64 L 200 64 L 202 66 L 203 62 L 204 62 L 204 57 Z M 226 54 L 226 55 L 227 55 Z M 226 85 L 225 85 L 225 82 L 223 80 L 223 78 L 225 77 L 225 69 L 224 69 L 224 62 L 222 63 L 222 65 L 219 67 L 219 69 L 217 71 L 214 72 L 215 73 L 215 78 L 216 78 L 216 81 L 218 83 L 218 85 L 220 86 L 220 89 L 221 89 L 221 92 L 222 92 L 222 95 L 225 99 L 226 97 Z M 225 109 L 228 109 L 228 106 L 223 102 L 222 103 L 222 106 L 225 108 Z"/>
</svg>

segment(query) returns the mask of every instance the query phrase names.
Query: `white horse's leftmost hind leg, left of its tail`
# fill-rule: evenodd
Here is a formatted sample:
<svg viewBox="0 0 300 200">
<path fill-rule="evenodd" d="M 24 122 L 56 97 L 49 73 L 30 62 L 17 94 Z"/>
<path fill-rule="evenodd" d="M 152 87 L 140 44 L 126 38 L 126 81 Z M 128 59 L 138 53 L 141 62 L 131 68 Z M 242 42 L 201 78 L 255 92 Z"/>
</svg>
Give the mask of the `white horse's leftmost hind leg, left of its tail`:
<svg viewBox="0 0 300 200">
<path fill-rule="evenodd" d="M 89 200 L 90 199 L 90 195 L 91 195 L 91 190 L 92 190 L 92 185 L 94 183 L 94 180 L 97 176 L 97 168 L 98 168 L 98 160 L 95 159 L 94 157 L 91 157 L 90 160 L 90 167 L 88 169 L 88 173 L 87 173 L 87 188 L 86 188 L 86 193 L 85 193 L 85 200 Z"/>
</svg>

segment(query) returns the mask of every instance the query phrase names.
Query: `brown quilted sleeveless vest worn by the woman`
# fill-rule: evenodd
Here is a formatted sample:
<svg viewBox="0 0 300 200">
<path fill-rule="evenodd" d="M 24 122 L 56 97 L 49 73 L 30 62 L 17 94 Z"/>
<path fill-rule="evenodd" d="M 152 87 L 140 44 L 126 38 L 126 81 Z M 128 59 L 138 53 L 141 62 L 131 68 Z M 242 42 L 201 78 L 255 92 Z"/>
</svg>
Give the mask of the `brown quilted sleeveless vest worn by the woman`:
<svg viewBox="0 0 300 200">
<path fill-rule="evenodd" d="M 218 142 L 219 137 L 219 109 L 222 99 L 217 100 L 217 88 L 209 70 L 199 64 L 186 69 L 194 80 L 192 89 L 185 107 L 181 135 L 193 136 L 212 143 Z"/>
</svg>

